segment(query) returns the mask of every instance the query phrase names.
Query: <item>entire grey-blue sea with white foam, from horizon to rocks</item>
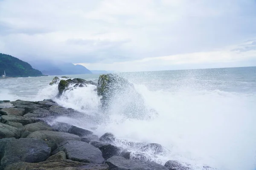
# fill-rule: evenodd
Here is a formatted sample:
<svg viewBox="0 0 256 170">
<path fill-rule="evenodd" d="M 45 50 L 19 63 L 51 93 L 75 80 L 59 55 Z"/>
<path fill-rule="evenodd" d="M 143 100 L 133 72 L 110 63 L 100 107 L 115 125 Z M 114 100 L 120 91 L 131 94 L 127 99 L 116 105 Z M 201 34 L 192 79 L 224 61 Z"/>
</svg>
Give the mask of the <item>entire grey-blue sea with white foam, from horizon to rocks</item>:
<svg viewBox="0 0 256 170">
<path fill-rule="evenodd" d="M 147 119 L 122 115 L 119 100 L 104 121 L 59 117 L 54 121 L 94 127 L 96 135 L 113 133 L 124 141 L 158 143 L 165 154 L 145 153 L 148 160 L 165 164 L 177 160 L 194 170 L 256 169 L 256 67 L 116 73 L 134 84 L 148 108 Z M 65 75 L 97 82 L 100 74 Z M 99 114 L 96 86 L 66 91 L 60 98 L 54 76 L 0 79 L 0 100 L 54 99 L 84 114 Z M 129 102 L 123 95 L 122 102 Z M 102 113 L 103 114 L 103 113 Z M 151 113 L 148 113 L 151 114 Z M 104 117 L 105 115 L 101 116 Z M 136 153 L 136 147 L 128 147 Z"/>
</svg>

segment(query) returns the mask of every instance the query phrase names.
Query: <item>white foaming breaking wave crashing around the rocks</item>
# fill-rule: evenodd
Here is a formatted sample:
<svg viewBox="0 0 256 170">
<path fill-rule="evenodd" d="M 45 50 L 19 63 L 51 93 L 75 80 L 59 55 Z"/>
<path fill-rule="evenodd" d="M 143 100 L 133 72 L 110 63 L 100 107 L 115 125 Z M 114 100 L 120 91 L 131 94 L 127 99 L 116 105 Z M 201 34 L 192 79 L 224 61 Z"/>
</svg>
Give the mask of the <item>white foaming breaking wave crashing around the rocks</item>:
<svg viewBox="0 0 256 170">
<path fill-rule="evenodd" d="M 203 166 L 218 170 L 253 170 L 256 163 L 256 97 L 220 90 L 195 90 L 179 88 L 148 90 L 142 84 L 135 84 L 136 91 L 143 96 L 148 110 L 148 119 L 129 118 L 122 113 L 124 102 L 131 100 L 128 94 L 116 96 L 109 115 L 100 113 L 100 97 L 96 86 L 76 88 L 66 91 L 55 101 L 90 115 L 100 115 L 100 123 L 95 125 L 95 133 L 113 133 L 119 141 L 117 145 L 132 151 L 137 156 L 138 147 L 130 142 L 148 142 L 163 145 L 168 152 L 154 154 L 144 152 L 144 159 L 164 164 L 168 160 L 178 160 L 190 164 L 193 169 Z M 54 98 L 57 86 L 43 89 L 38 97 Z M 128 99 L 125 99 L 128 96 Z M 79 118 L 78 118 L 79 119 Z M 69 122 L 67 118 L 58 121 Z M 86 123 L 73 120 L 79 127 Z M 141 156 L 141 155 L 140 155 Z"/>
</svg>

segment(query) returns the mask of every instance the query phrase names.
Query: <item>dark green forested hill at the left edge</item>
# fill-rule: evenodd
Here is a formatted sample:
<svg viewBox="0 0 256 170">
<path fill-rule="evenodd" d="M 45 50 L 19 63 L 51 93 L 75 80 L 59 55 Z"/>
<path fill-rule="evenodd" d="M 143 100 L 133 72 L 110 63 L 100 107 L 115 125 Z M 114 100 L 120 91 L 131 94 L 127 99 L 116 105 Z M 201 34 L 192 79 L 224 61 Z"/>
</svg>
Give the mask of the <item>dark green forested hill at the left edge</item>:
<svg viewBox="0 0 256 170">
<path fill-rule="evenodd" d="M 0 53 L 0 76 L 6 71 L 6 77 L 37 77 L 43 76 L 42 72 L 20 59 Z"/>
</svg>

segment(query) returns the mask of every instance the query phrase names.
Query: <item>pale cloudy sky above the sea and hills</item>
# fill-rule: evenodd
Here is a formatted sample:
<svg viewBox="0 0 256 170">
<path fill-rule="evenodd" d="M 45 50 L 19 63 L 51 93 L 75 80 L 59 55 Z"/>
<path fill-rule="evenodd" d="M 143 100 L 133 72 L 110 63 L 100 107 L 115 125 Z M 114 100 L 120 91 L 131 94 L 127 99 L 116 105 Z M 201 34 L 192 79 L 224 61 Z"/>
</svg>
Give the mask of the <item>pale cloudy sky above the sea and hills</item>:
<svg viewBox="0 0 256 170">
<path fill-rule="evenodd" d="M 0 0 L 0 52 L 90 70 L 256 66 L 256 0 Z"/>
</svg>

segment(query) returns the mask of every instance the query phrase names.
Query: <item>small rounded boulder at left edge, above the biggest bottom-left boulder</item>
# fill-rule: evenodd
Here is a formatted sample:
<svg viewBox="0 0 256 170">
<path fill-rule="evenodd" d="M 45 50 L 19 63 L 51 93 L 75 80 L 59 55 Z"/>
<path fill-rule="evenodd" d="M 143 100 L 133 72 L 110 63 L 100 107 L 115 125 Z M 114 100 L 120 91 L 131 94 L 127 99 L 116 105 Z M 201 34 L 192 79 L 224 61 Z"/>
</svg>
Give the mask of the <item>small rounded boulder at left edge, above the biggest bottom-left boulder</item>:
<svg viewBox="0 0 256 170">
<path fill-rule="evenodd" d="M 17 127 L 0 123 L 0 139 L 3 138 L 19 138 L 20 133 Z"/>
</svg>

